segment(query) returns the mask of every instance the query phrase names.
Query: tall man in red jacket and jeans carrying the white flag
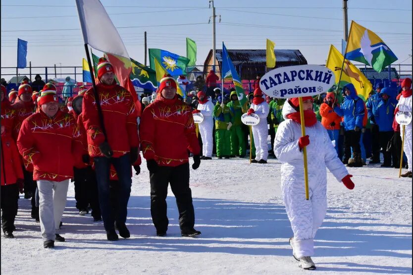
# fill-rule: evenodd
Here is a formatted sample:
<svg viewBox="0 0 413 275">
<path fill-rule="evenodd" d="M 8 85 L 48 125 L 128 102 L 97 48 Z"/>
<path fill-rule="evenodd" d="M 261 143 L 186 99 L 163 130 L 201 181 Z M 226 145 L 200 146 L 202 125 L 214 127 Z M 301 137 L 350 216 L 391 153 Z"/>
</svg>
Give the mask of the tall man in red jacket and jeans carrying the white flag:
<svg viewBox="0 0 413 275">
<path fill-rule="evenodd" d="M 94 89 L 83 96 L 83 124 L 87 132 L 89 155 L 95 158 L 99 204 L 108 240 L 118 240 L 119 235 L 129 238 L 125 225 L 131 192 L 131 165 L 139 159 L 137 114 L 132 95 L 114 80 L 114 69 L 105 58 L 99 59 L 97 85 L 103 119 L 98 114 Z M 102 125 L 103 120 L 103 125 Z M 105 133 L 104 134 L 104 129 Z M 110 165 L 116 169 L 119 182 L 115 217 L 111 215 L 109 200 Z M 135 165 L 138 169 L 139 165 Z"/>
</svg>

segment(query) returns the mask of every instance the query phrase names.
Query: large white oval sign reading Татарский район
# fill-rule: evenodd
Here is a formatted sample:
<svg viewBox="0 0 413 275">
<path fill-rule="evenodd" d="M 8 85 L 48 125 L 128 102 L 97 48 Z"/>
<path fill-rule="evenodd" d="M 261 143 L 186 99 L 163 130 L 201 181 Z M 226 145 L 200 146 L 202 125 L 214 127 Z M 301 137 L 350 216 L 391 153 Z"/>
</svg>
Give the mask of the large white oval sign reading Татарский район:
<svg viewBox="0 0 413 275">
<path fill-rule="evenodd" d="M 335 83 L 334 73 L 321 65 L 298 65 L 273 69 L 259 81 L 262 92 L 272 98 L 298 98 L 326 93 Z"/>
</svg>

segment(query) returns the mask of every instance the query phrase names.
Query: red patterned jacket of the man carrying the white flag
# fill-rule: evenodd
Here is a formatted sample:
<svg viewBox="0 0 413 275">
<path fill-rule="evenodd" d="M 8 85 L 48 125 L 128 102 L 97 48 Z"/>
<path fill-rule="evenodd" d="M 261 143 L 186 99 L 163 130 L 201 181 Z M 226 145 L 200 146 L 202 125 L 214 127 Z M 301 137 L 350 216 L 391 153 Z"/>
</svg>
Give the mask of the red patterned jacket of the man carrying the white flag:
<svg viewBox="0 0 413 275">
<path fill-rule="evenodd" d="M 97 85 L 101 102 L 107 141 L 113 157 L 119 158 L 139 147 L 137 114 L 129 91 L 119 85 Z M 99 145 L 104 141 L 93 88 L 83 95 L 83 124 L 87 132 L 88 151 L 91 157 L 102 157 Z"/>
</svg>

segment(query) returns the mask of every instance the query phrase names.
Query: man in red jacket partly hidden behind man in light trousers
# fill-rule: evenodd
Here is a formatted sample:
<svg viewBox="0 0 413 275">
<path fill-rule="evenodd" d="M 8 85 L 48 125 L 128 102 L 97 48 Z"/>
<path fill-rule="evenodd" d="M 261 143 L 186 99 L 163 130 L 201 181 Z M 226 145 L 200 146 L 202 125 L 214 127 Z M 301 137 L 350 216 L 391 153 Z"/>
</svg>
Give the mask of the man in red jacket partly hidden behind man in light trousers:
<svg viewBox="0 0 413 275">
<path fill-rule="evenodd" d="M 19 86 L 18 95 L 16 102 L 12 107 L 16 110 L 16 123 L 14 125 L 13 137 L 17 140 L 19 135 L 19 130 L 23 120 L 32 115 L 34 110 L 34 103 L 32 100 L 33 91 L 32 87 L 27 81 L 23 81 Z M 36 207 L 35 192 L 36 192 L 36 181 L 33 180 L 33 166 L 28 162 L 23 161 L 23 174 L 24 174 L 24 198 L 32 198 L 32 213 L 33 219 L 39 219 L 39 208 Z"/>
</svg>

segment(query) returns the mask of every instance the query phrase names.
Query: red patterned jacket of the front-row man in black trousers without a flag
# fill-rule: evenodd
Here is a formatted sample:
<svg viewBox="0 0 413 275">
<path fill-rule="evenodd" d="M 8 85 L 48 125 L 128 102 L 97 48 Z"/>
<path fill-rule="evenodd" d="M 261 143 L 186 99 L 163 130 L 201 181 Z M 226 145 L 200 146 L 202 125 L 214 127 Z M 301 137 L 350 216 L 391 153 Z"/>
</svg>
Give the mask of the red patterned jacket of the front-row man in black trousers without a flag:
<svg viewBox="0 0 413 275">
<path fill-rule="evenodd" d="M 172 100 L 159 97 L 146 107 L 139 130 L 144 158 L 160 166 L 188 163 L 187 149 L 200 153 L 191 107 L 176 96 Z"/>
</svg>

